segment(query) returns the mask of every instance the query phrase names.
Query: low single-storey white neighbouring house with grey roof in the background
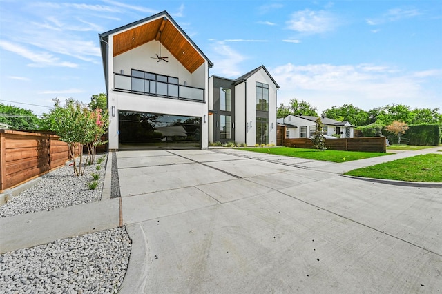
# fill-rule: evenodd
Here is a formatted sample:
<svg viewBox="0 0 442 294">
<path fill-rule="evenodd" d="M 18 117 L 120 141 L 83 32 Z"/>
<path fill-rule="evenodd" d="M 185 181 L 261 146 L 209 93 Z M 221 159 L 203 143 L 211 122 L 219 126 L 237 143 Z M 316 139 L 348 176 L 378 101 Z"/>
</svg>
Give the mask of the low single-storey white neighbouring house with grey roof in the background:
<svg viewBox="0 0 442 294">
<path fill-rule="evenodd" d="M 280 126 L 285 126 L 285 138 L 309 138 L 313 137 L 316 130 L 316 119 L 307 115 L 287 115 L 287 117 L 278 119 Z M 340 135 L 341 138 L 353 138 L 354 126 L 348 121 L 336 121 L 327 117 L 321 117 L 323 123 L 323 134 L 332 136 Z"/>
</svg>

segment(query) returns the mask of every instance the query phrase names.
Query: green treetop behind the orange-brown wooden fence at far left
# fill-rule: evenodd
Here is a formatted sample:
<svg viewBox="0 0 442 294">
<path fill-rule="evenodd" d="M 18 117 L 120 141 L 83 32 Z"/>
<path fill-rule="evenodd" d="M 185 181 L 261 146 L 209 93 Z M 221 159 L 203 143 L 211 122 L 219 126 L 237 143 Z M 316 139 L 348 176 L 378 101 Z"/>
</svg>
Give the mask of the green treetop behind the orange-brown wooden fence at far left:
<svg viewBox="0 0 442 294">
<path fill-rule="evenodd" d="M 31 110 L 0 103 L 0 122 L 14 130 L 37 130 L 40 119 Z"/>
</svg>

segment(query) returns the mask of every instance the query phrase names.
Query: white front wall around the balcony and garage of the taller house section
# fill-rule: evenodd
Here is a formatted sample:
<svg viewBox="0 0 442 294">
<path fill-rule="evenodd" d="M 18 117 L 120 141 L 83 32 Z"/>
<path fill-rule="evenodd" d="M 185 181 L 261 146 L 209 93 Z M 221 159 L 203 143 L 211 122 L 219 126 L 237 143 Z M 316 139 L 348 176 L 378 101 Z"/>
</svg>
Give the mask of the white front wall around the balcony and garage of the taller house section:
<svg viewBox="0 0 442 294">
<path fill-rule="evenodd" d="M 209 64 L 207 61 L 191 74 L 164 47 L 162 47 L 162 55 L 169 57 L 168 63 L 164 61 L 157 62 L 156 59 L 151 59 L 150 57 L 154 57 L 155 54 L 159 53 L 159 43 L 157 41 L 151 41 L 134 48 L 133 50 L 129 50 L 128 52 L 113 57 L 113 35 L 109 35 L 108 40 L 107 75 L 108 108 L 110 114 L 108 148 L 119 148 L 118 110 L 201 117 L 201 147 L 207 148 L 209 141 L 209 118 L 207 118 L 209 109 L 207 102 L 209 100 L 207 90 L 209 85 Z M 187 86 L 203 88 L 204 102 L 168 99 L 114 91 L 113 73 L 120 73 L 120 70 L 124 70 L 124 75 L 131 75 L 132 69 L 177 77 L 180 85 L 184 85 L 184 81 L 186 81 Z M 115 117 L 112 116 L 112 106 L 115 106 Z M 206 117 L 206 122 L 204 122 L 204 116 Z"/>
</svg>

